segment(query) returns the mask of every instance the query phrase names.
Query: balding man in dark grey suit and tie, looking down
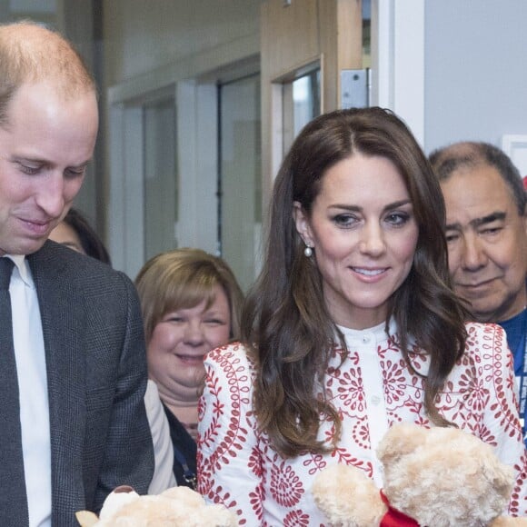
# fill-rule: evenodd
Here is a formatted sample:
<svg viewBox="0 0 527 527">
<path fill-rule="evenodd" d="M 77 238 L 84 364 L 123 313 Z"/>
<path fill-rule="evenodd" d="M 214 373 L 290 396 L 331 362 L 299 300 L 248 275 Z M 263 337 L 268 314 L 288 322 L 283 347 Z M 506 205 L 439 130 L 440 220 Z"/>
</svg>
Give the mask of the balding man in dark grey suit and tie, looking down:
<svg viewBox="0 0 527 527">
<path fill-rule="evenodd" d="M 146 492 L 154 471 L 134 286 L 110 266 L 46 241 L 83 183 L 97 127 L 94 82 L 72 46 L 39 25 L 0 26 L 6 526 L 75 525 L 76 511 L 98 511 L 115 486 Z"/>
</svg>

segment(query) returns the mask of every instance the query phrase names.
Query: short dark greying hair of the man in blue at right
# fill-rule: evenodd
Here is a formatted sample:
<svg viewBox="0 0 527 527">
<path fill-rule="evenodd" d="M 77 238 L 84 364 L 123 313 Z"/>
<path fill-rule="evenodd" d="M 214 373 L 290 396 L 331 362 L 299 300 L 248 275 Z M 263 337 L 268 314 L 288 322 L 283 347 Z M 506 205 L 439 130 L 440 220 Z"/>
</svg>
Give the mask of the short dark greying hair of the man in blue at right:
<svg viewBox="0 0 527 527">
<path fill-rule="evenodd" d="M 465 141 L 434 150 L 429 156 L 433 171 L 440 181 L 447 180 L 454 171 L 488 165 L 495 168 L 509 187 L 518 214 L 525 214 L 526 194 L 522 176 L 511 158 L 493 144 Z"/>
</svg>

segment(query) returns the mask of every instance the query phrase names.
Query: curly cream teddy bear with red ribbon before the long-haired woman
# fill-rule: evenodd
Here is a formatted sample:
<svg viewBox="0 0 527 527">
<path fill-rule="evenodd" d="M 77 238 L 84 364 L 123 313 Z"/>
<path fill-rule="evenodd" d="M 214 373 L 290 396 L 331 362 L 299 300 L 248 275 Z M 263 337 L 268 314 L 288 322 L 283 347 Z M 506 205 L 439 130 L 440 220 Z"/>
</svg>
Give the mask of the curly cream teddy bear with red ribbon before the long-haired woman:
<svg viewBox="0 0 527 527">
<path fill-rule="evenodd" d="M 377 448 L 383 489 L 356 467 L 334 464 L 313 482 L 314 502 L 339 527 L 505 527 L 513 471 L 491 446 L 457 428 L 395 424 Z"/>
</svg>

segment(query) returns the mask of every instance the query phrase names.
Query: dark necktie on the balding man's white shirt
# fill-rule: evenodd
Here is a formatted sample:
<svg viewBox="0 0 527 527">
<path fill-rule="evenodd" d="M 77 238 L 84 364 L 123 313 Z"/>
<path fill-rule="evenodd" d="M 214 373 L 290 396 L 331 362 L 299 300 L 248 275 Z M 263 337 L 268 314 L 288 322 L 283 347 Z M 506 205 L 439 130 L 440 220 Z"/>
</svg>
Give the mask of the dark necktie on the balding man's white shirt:
<svg viewBox="0 0 527 527">
<path fill-rule="evenodd" d="M 9 281 L 13 261 L 0 257 L 0 524 L 29 523 Z"/>
</svg>

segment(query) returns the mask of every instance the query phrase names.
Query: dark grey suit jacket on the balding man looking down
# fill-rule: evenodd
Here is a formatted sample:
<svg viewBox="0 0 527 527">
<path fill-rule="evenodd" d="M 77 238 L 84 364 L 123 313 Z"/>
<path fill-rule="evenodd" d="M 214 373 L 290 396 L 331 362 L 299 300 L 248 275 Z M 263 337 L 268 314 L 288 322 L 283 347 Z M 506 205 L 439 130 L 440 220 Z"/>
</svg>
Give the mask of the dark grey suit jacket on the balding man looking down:
<svg viewBox="0 0 527 527">
<path fill-rule="evenodd" d="M 118 485 L 145 493 L 154 472 L 141 311 L 109 265 L 50 241 L 27 259 L 44 332 L 52 522 L 76 525 L 76 511 L 98 512 Z"/>
</svg>

